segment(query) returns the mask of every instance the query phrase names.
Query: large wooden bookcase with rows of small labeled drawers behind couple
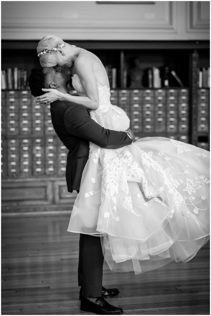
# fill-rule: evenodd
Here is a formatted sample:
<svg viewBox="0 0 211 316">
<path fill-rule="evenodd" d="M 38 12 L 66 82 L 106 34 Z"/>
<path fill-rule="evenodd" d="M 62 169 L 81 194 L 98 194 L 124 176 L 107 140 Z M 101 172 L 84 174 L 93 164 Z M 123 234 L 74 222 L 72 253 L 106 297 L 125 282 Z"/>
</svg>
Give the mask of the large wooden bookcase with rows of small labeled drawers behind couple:
<svg viewBox="0 0 211 316">
<path fill-rule="evenodd" d="M 111 103 L 127 112 L 137 139 L 171 137 L 209 149 L 209 88 L 198 88 L 199 68 L 209 67 L 208 41 L 71 44 L 94 52 L 103 64 L 117 68 Z M 29 75 L 39 66 L 36 46 L 37 41 L 2 41 L 2 69 L 18 67 Z M 134 57 L 140 59 L 143 69 L 168 64 L 185 86 L 130 88 L 129 81 L 124 86 L 124 70 Z M 49 108 L 36 109 L 29 90 L 2 90 L 2 211 L 71 211 L 76 193 L 69 194 L 66 189 L 66 154 L 52 129 Z"/>
</svg>

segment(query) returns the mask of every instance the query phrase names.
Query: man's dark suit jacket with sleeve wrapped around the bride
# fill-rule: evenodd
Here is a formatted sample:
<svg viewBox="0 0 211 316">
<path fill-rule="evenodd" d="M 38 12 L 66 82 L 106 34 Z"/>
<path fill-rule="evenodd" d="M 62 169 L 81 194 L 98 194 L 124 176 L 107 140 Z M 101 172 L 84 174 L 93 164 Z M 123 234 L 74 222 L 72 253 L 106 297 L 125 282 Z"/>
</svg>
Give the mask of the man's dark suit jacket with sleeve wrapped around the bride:
<svg viewBox="0 0 211 316">
<path fill-rule="evenodd" d="M 89 156 L 89 142 L 116 149 L 132 143 L 125 132 L 111 131 L 97 124 L 82 105 L 57 100 L 50 105 L 56 134 L 69 150 L 67 154 L 67 190 L 79 190 L 82 172 Z"/>
</svg>

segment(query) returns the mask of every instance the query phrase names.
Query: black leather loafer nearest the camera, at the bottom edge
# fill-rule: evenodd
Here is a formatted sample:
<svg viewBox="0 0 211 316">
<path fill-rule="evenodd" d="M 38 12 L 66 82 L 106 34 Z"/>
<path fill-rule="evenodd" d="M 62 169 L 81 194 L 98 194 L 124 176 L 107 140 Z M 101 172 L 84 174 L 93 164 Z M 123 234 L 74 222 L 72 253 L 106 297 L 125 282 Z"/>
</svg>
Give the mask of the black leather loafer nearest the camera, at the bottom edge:
<svg viewBox="0 0 211 316">
<path fill-rule="evenodd" d="M 81 310 L 98 315 L 119 315 L 123 313 L 121 307 L 108 304 L 103 297 L 98 297 L 96 303 L 92 303 L 83 295 L 81 298 Z"/>
</svg>

